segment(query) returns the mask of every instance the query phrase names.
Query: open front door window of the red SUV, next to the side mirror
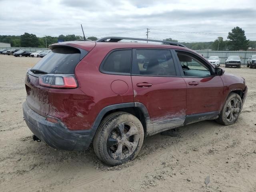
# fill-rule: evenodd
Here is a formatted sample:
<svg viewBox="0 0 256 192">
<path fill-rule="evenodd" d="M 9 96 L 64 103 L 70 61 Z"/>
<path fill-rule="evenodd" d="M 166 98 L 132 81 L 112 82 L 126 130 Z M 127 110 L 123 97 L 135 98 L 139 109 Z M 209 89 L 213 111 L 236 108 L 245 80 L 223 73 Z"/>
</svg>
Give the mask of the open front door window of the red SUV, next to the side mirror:
<svg viewBox="0 0 256 192">
<path fill-rule="evenodd" d="M 196 57 L 186 52 L 176 51 L 176 53 L 185 76 L 203 77 L 211 75 L 206 64 L 199 61 Z"/>
</svg>

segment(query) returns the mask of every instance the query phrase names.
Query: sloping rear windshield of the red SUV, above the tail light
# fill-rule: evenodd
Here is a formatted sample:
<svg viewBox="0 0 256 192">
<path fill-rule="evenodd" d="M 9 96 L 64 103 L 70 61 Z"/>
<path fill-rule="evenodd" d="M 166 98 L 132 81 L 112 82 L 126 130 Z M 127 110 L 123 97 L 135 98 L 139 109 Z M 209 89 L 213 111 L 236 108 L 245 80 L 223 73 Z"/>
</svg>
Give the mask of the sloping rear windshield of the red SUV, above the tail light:
<svg viewBox="0 0 256 192">
<path fill-rule="evenodd" d="M 80 54 L 80 50 L 76 48 L 54 48 L 33 69 L 42 70 L 47 73 L 74 74 L 76 65 L 80 62 Z"/>
</svg>

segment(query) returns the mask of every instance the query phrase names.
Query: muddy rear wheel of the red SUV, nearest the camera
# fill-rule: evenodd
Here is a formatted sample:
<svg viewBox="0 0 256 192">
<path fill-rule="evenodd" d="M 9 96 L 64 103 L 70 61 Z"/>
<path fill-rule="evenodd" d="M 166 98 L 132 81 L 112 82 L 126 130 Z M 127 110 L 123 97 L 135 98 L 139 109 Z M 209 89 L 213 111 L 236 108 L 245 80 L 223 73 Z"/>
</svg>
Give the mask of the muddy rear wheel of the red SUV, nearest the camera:
<svg viewBox="0 0 256 192">
<path fill-rule="evenodd" d="M 143 140 L 144 130 L 138 118 L 126 112 L 114 112 L 100 123 L 93 148 L 104 163 L 119 165 L 137 156 Z"/>
</svg>

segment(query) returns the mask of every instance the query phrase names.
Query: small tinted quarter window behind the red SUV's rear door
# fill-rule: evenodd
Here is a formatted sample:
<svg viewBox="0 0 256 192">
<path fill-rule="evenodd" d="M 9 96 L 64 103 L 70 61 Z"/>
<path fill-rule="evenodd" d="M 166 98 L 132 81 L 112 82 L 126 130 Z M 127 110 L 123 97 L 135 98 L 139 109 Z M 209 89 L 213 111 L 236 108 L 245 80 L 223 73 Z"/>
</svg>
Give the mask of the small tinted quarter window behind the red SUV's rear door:
<svg viewBox="0 0 256 192">
<path fill-rule="evenodd" d="M 104 61 L 101 66 L 103 72 L 130 73 L 132 50 L 116 50 Z"/>
</svg>

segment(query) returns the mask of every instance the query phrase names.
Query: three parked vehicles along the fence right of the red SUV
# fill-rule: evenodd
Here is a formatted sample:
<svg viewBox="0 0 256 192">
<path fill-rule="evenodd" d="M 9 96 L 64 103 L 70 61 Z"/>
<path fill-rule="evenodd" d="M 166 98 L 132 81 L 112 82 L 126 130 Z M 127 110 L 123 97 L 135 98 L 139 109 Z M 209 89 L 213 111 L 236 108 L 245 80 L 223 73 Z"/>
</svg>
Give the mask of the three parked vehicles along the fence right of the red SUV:
<svg viewBox="0 0 256 192">
<path fill-rule="evenodd" d="M 228 56 L 225 61 L 225 67 L 235 66 L 241 68 L 242 60 L 239 56 Z M 208 61 L 211 62 L 214 66 L 220 66 L 220 58 L 218 56 L 210 56 Z M 253 68 L 256 67 L 256 55 L 252 55 L 247 60 L 247 67 Z"/>
</svg>

